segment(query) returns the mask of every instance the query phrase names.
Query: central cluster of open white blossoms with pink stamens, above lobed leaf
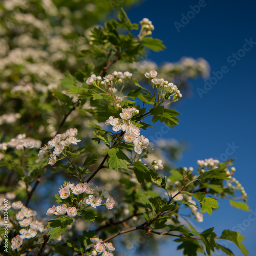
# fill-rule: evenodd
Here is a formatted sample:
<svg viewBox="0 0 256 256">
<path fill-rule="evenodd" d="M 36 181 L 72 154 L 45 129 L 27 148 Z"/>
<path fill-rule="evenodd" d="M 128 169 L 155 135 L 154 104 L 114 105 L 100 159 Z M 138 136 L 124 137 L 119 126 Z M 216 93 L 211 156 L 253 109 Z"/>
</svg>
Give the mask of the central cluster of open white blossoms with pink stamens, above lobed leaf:
<svg viewBox="0 0 256 256">
<path fill-rule="evenodd" d="M 106 120 L 105 124 L 112 125 L 114 132 L 118 132 L 120 130 L 125 132 L 123 136 L 124 141 L 126 143 L 133 143 L 134 151 L 137 154 L 141 154 L 143 148 L 148 146 L 149 141 L 143 135 L 140 135 L 139 128 L 130 120 L 134 115 L 137 115 L 138 113 L 139 111 L 136 110 L 136 108 L 122 109 L 122 113 L 119 114 L 121 119 L 110 116 L 109 119 Z"/>
</svg>

